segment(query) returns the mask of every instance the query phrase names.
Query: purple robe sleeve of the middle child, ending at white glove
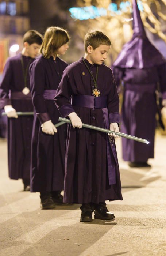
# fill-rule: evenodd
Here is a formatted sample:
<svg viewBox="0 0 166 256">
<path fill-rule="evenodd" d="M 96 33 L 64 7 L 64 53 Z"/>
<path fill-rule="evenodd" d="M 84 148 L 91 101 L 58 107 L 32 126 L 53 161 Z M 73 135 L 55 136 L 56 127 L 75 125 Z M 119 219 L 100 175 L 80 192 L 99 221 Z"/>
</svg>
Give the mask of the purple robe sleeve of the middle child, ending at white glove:
<svg viewBox="0 0 166 256">
<path fill-rule="evenodd" d="M 49 121 L 51 118 L 47 112 L 47 106 L 43 98 L 45 90 L 45 71 L 41 63 L 35 61 L 30 65 L 30 87 L 32 103 L 36 110 L 36 115 L 41 123 Z"/>
</svg>

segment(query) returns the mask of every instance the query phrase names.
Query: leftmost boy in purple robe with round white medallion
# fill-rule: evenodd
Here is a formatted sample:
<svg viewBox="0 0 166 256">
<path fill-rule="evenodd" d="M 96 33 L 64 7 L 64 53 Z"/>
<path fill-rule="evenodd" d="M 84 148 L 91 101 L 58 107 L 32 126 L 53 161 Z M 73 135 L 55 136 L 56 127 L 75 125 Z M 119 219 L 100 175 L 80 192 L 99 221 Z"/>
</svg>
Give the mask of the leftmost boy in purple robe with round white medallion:
<svg viewBox="0 0 166 256">
<path fill-rule="evenodd" d="M 23 50 L 7 60 L 0 84 L 0 107 L 7 117 L 9 177 L 23 179 L 24 191 L 30 190 L 30 155 L 33 116 L 19 112 L 33 111 L 28 68 L 39 52 L 42 35 L 29 30 L 23 36 Z"/>
</svg>

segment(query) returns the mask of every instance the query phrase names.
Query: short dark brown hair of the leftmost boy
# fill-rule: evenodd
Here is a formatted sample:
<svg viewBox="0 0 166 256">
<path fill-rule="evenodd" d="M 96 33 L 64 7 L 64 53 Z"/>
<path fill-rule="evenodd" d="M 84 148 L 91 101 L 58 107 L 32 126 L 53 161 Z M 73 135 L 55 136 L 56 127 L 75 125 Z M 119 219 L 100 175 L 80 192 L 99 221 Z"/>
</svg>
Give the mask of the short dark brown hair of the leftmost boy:
<svg viewBox="0 0 166 256">
<path fill-rule="evenodd" d="M 23 43 L 28 42 L 28 44 L 38 44 L 41 45 L 43 42 L 43 36 L 36 30 L 29 30 L 23 36 Z"/>
</svg>

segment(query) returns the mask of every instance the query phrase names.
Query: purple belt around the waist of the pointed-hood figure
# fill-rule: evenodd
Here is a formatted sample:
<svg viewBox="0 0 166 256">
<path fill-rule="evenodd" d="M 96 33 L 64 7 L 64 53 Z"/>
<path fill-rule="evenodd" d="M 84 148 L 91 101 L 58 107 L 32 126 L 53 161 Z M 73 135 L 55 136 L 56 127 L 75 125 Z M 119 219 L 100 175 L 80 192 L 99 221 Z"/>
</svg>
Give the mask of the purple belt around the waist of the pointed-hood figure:
<svg viewBox="0 0 166 256">
<path fill-rule="evenodd" d="M 135 91 L 138 93 L 155 93 L 156 85 L 155 84 L 128 84 L 126 83 L 124 88 L 126 90 Z"/>
</svg>

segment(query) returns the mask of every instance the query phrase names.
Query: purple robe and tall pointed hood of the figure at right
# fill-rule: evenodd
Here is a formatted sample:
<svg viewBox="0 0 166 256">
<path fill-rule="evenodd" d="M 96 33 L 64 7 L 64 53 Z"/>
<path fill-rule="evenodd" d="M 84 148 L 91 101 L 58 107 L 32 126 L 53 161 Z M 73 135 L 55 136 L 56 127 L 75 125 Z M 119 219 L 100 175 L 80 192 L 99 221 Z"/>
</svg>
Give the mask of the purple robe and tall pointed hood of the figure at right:
<svg viewBox="0 0 166 256">
<path fill-rule="evenodd" d="M 123 138 L 123 159 L 146 162 L 154 157 L 155 90 L 159 89 L 166 99 L 166 60 L 148 40 L 136 0 L 133 0 L 133 18 L 133 37 L 115 60 L 113 74 L 117 86 L 120 80 L 124 84 L 121 132 L 150 142 L 143 144 Z"/>
</svg>

